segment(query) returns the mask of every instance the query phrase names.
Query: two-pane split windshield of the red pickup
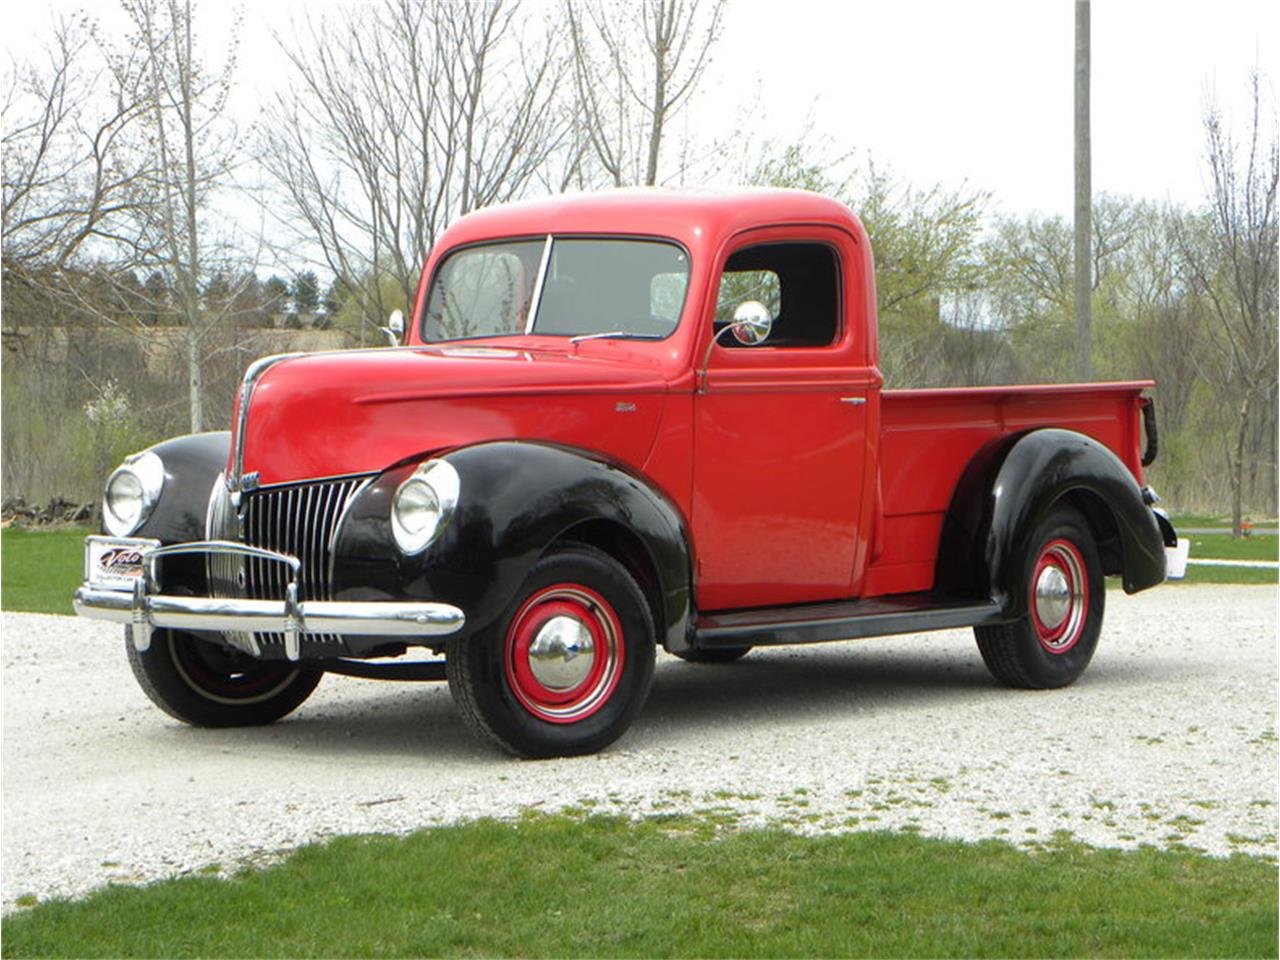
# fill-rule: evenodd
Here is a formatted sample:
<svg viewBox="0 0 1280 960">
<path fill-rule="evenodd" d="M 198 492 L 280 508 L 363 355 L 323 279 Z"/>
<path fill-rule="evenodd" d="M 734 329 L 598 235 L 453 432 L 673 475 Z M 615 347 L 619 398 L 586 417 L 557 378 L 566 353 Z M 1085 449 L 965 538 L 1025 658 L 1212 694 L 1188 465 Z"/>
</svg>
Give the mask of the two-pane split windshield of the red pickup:
<svg viewBox="0 0 1280 960">
<path fill-rule="evenodd" d="M 466 247 L 435 271 L 429 343 L 539 333 L 662 338 L 676 329 L 689 257 L 675 243 L 541 238 Z"/>
</svg>

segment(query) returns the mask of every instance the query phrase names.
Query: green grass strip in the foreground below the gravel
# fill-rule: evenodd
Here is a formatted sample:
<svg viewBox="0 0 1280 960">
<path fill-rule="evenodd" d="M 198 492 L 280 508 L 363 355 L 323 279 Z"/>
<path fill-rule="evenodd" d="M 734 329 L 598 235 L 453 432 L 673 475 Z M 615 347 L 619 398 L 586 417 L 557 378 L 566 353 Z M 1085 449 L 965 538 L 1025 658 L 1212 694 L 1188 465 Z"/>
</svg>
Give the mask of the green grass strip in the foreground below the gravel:
<svg viewBox="0 0 1280 960">
<path fill-rule="evenodd" d="M 1275 956 L 1258 859 L 538 817 L 4 920 L 5 956 Z"/>
</svg>

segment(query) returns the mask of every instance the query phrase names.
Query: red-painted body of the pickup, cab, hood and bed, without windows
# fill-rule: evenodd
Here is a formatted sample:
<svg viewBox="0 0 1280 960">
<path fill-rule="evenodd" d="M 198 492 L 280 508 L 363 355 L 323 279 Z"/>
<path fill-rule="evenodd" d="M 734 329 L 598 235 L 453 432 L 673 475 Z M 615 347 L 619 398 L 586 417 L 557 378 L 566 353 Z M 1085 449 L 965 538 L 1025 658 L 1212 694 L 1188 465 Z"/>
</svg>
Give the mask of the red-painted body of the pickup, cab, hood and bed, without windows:
<svg viewBox="0 0 1280 960">
<path fill-rule="evenodd" d="M 658 342 L 515 335 L 422 344 L 428 282 L 449 250 L 547 233 L 684 244 L 690 276 L 676 332 Z M 726 259 L 777 239 L 836 247 L 838 340 L 713 347 L 699 392 Z M 616 191 L 493 207 L 440 238 L 408 346 L 311 355 L 266 371 L 251 402 L 244 470 L 262 484 L 371 472 L 494 439 L 591 451 L 643 474 L 681 509 L 704 611 L 929 589 L 960 472 L 983 443 L 1011 431 L 1079 430 L 1140 481 L 1138 404 L 1151 383 L 882 392 L 876 360 L 870 247 L 832 200 Z"/>
</svg>

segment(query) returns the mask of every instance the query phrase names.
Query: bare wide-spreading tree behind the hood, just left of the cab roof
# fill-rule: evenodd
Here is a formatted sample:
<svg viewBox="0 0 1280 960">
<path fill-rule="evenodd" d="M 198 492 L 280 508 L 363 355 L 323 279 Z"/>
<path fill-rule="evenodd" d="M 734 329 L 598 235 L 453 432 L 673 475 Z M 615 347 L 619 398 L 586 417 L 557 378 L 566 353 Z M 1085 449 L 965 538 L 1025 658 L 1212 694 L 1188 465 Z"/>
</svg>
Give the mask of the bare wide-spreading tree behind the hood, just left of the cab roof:
<svg viewBox="0 0 1280 960">
<path fill-rule="evenodd" d="M 297 79 L 270 111 L 262 163 L 284 219 L 372 329 L 411 298 L 451 220 L 554 165 L 570 133 L 564 44 L 511 0 L 381 0 L 303 36 L 285 47 Z"/>
</svg>

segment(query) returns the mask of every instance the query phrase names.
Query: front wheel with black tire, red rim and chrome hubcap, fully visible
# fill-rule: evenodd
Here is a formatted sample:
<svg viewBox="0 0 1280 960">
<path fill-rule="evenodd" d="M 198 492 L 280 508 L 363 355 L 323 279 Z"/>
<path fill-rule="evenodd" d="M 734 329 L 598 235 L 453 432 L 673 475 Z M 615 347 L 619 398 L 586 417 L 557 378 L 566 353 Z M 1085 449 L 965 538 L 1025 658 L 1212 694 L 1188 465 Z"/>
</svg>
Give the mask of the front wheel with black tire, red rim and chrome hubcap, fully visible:
<svg viewBox="0 0 1280 960">
<path fill-rule="evenodd" d="M 573 545 L 543 557 L 493 626 L 451 641 L 449 692 L 476 733 L 517 756 L 596 753 L 649 696 L 654 636 L 627 571 Z"/>
</svg>

